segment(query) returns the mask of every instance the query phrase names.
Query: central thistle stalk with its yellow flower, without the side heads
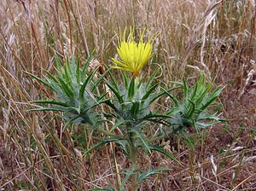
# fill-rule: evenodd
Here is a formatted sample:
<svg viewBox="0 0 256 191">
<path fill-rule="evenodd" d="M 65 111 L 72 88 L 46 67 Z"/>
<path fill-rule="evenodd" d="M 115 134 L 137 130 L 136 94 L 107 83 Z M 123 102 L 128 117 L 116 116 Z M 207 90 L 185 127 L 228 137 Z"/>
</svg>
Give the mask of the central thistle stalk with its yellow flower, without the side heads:
<svg viewBox="0 0 256 191">
<path fill-rule="evenodd" d="M 113 67 L 114 69 L 131 72 L 131 75 L 129 76 L 126 72 L 123 72 L 124 84 L 121 85 L 116 83 L 117 80 L 113 78 L 111 73 L 109 73 L 111 80 L 109 81 L 105 78 L 104 81 L 113 92 L 113 97 L 105 101 L 112 108 L 112 112 L 108 113 L 107 116 L 113 118 L 116 122 L 111 131 L 115 131 L 116 134 L 123 137 L 122 139 L 112 137 L 110 140 L 111 142 L 116 142 L 128 159 L 130 159 L 130 172 L 132 173 L 128 174 L 132 177 L 132 190 L 136 190 L 138 182 L 148 178 L 146 175 L 159 173 L 159 171 L 155 170 L 147 171 L 145 176 L 143 176 L 144 174 L 138 171 L 137 151 L 139 148 L 143 148 L 145 153 L 155 150 L 165 154 L 170 159 L 175 161 L 177 159 L 172 157 L 170 153 L 166 153 L 159 146 L 154 146 L 151 142 L 148 142 L 143 130 L 149 125 L 148 122 L 159 123 L 161 118 L 165 117 L 161 113 L 154 113 L 150 108 L 154 101 L 166 94 L 166 90 L 157 92 L 159 84 L 153 84 L 158 71 L 155 71 L 148 78 L 147 83 L 143 83 L 139 72 L 152 55 L 152 44 L 150 41 L 143 43 L 143 32 L 140 32 L 139 43 L 136 43 L 133 39 L 132 30 L 127 39 L 124 32 L 123 40 L 119 42 L 119 47 L 117 48 L 121 61 L 112 59 L 113 63 L 118 65 Z"/>
</svg>

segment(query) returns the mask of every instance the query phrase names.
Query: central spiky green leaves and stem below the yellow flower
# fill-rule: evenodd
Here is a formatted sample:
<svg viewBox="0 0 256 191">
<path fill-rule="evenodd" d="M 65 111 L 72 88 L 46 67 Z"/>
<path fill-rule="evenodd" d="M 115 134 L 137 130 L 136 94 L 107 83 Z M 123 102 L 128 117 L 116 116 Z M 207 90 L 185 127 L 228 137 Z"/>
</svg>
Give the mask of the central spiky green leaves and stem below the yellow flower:
<svg viewBox="0 0 256 191">
<path fill-rule="evenodd" d="M 115 130 L 122 137 L 122 139 L 112 137 L 109 141 L 116 142 L 128 159 L 131 159 L 133 190 L 137 188 L 137 178 L 139 177 L 137 177 L 137 152 L 139 148 L 143 148 L 145 153 L 155 150 L 177 162 L 177 159 L 166 153 L 163 148 L 148 142 L 149 139 L 143 130 L 150 126 L 149 122 L 159 124 L 163 117 L 167 117 L 161 113 L 151 111 L 154 101 L 166 94 L 166 90 L 156 91 L 159 84 L 152 85 L 156 74 L 157 71 L 151 75 L 145 84 L 143 79 L 129 78 L 126 73 L 123 75 L 124 84 L 122 85 L 116 84 L 116 79 L 111 75 L 111 82 L 105 79 L 108 88 L 113 92 L 113 97 L 105 101 L 112 108 L 111 113 L 106 116 L 115 120 L 115 124 L 110 131 Z"/>
</svg>

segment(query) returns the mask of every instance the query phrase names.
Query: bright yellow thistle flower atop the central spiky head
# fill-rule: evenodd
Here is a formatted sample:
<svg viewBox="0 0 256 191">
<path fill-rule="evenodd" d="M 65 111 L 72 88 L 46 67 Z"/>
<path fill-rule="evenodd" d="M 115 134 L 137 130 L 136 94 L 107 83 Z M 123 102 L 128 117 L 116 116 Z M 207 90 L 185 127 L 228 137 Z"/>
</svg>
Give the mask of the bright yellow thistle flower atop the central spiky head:
<svg viewBox="0 0 256 191">
<path fill-rule="evenodd" d="M 128 38 L 119 39 L 119 47 L 117 52 L 121 61 L 112 58 L 113 63 L 117 64 L 113 68 L 119 70 L 130 71 L 134 76 L 138 76 L 140 69 L 142 69 L 152 55 L 152 44 L 150 40 L 148 43 L 143 42 L 143 33 L 140 31 L 139 43 L 134 41 L 133 31 L 130 29 Z"/>
</svg>

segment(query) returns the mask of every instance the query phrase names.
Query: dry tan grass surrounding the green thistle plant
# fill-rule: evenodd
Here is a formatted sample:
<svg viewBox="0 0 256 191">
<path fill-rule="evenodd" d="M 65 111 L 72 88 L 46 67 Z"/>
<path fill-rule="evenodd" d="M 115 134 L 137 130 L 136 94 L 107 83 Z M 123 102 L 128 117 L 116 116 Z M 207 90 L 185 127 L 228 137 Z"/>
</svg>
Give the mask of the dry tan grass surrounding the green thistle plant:
<svg viewBox="0 0 256 191">
<path fill-rule="evenodd" d="M 84 154 L 96 141 L 89 130 L 62 131 L 55 113 L 27 112 L 28 101 L 50 92 L 26 72 L 52 72 L 55 53 L 83 63 L 94 49 L 94 63 L 108 66 L 116 54 L 116 32 L 125 26 L 158 32 L 148 72 L 161 67 L 166 87 L 183 77 L 192 84 L 201 72 L 224 85 L 223 116 L 232 119 L 202 131 L 195 149 L 176 136 L 166 140 L 183 166 L 157 153 L 140 155 L 141 166 L 170 169 L 140 190 L 256 190 L 253 6 L 246 0 L 2 0 L 1 190 L 88 190 L 117 182 L 113 154 L 120 169 L 127 165 L 118 149 L 107 145 Z"/>
</svg>

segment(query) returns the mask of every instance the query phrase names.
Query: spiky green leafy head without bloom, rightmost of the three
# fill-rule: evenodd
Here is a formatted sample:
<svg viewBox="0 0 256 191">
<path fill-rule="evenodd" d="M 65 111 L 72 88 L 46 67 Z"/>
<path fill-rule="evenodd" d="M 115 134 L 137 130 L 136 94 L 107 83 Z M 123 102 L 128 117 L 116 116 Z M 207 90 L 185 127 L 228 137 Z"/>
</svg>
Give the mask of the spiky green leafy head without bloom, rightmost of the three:
<svg viewBox="0 0 256 191">
<path fill-rule="evenodd" d="M 176 97 L 168 94 L 174 103 L 167 115 L 174 133 L 185 133 L 187 127 L 194 127 L 198 132 L 213 124 L 224 121 L 210 107 L 216 106 L 216 99 L 220 96 L 221 87 L 212 88 L 212 83 L 206 83 L 204 75 L 201 75 L 193 87 L 183 79 L 180 84 L 183 90 L 183 99 L 178 101 Z"/>
</svg>

